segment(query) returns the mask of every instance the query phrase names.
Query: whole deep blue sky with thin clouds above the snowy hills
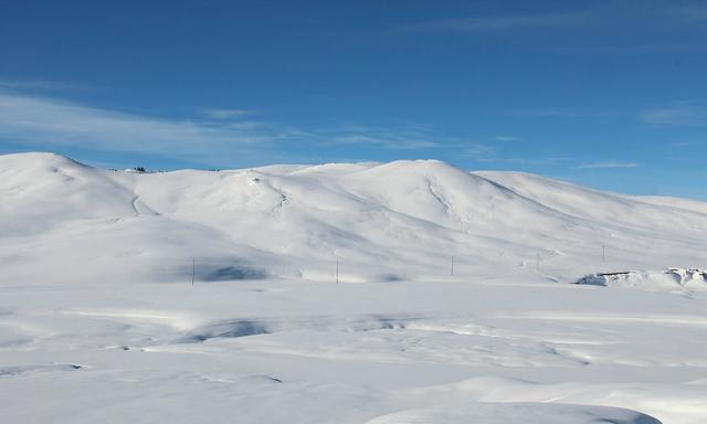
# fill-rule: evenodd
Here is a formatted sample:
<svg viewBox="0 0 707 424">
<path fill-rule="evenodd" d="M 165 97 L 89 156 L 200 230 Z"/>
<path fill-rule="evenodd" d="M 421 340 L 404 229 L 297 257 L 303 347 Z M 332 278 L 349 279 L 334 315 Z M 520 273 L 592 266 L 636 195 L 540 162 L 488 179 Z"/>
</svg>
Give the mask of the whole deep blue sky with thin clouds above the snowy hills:
<svg viewBox="0 0 707 424">
<path fill-rule="evenodd" d="M 434 158 L 707 200 L 704 1 L 0 1 L 0 153 Z"/>
</svg>

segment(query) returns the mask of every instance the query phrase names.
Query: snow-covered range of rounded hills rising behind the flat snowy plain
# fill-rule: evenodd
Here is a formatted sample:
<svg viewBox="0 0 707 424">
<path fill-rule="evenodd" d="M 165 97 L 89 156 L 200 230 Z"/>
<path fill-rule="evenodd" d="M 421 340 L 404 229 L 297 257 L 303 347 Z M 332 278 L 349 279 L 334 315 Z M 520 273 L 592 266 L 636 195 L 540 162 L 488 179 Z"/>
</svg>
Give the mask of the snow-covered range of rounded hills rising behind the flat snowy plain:
<svg viewBox="0 0 707 424">
<path fill-rule="evenodd" d="M 446 163 L 134 173 L 0 157 L 8 280 L 572 280 L 704 266 L 707 205 Z M 454 257 L 452 259 L 452 257 Z M 32 266 L 28 266 L 32 264 Z"/>
</svg>

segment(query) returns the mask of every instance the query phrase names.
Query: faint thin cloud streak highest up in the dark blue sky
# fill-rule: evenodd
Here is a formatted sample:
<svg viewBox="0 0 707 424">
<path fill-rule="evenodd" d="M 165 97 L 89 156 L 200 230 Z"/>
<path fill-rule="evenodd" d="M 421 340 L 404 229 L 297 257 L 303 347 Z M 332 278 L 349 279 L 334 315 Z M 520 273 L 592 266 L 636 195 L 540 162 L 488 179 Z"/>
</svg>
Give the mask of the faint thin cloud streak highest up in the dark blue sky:
<svg viewBox="0 0 707 424">
<path fill-rule="evenodd" d="M 454 18 L 408 24 L 399 28 L 400 32 L 473 32 L 507 31 L 532 28 L 571 26 L 588 21 L 590 12 L 546 13 L 527 15 L 486 15 Z"/>
</svg>

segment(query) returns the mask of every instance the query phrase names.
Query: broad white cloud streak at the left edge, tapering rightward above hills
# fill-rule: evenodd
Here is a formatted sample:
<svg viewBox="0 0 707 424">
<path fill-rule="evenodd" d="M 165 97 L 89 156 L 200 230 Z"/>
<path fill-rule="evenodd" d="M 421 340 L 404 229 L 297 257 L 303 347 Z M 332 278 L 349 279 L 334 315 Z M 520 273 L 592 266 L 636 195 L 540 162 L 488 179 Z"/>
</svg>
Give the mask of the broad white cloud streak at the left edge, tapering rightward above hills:
<svg viewBox="0 0 707 424">
<path fill-rule="evenodd" d="M 208 157 L 282 137 L 252 128 L 170 120 L 0 92 L 0 138 L 36 146 Z"/>
</svg>

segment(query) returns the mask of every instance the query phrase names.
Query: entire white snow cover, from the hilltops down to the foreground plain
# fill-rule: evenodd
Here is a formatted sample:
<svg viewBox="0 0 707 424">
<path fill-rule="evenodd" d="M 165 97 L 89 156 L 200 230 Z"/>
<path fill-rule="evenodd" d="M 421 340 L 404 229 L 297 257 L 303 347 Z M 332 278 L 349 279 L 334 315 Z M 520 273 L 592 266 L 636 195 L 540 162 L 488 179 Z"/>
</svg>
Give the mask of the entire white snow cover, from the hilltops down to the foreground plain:
<svg viewBox="0 0 707 424">
<path fill-rule="evenodd" d="M 661 274 L 705 268 L 705 203 L 43 153 L 0 199 L 2 422 L 707 423 L 704 283 Z M 572 284 L 612 272 L 646 278 Z"/>
</svg>

